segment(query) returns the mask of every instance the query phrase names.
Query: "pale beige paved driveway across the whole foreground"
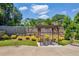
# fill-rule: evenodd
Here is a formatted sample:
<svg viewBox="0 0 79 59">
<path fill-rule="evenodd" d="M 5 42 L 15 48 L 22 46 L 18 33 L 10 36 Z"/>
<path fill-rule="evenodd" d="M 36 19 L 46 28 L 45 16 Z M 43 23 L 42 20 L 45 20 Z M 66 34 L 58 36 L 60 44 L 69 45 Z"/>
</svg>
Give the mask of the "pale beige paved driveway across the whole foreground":
<svg viewBox="0 0 79 59">
<path fill-rule="evenodd" d="M 79 56 L 79 47 L 0 47 L 0 56 Z"/>
</svg>

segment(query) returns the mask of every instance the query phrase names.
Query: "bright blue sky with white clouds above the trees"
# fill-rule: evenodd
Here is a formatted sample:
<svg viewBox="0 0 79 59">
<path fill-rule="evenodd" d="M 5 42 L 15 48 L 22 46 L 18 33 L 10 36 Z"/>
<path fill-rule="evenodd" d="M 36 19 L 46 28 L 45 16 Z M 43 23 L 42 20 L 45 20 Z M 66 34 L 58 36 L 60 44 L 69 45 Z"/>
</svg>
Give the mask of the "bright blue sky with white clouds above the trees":
<svg viewBox="0 0 79 59">
<path fill-rule="evenodd" d="M 65 14 L 74 18 L 79 12 L 79 3 L 15 3 L 15 7 L 25 18 L 52 18 L 55 14 Z"/>
</svg>

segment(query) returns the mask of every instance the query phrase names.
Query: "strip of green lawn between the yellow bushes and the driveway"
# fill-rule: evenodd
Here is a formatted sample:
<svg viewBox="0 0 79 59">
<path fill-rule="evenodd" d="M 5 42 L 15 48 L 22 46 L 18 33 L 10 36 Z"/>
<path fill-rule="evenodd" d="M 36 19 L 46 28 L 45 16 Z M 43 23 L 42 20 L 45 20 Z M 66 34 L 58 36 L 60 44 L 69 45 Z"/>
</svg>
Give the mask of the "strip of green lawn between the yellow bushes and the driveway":
<svg viewBox="0 0 79 59">
<path fill-rule="evenodd" d="M 37 46 L 37 42 L 31 41 L 31 40 L 25 40 L 25 41 L 3 40 L 3 41 L 0 41 L 0 46 L 19 46 L 19 45 Z"/>
</svg>

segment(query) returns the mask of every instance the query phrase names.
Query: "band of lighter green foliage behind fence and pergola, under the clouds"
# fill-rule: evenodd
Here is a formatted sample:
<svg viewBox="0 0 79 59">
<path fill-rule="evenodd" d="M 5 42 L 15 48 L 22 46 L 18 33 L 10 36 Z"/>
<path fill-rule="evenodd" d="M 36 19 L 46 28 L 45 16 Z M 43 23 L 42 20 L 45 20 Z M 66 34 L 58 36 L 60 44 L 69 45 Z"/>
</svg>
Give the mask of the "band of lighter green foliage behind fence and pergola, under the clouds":
<svg viewBox="0 0 79 59">
<path fill-rule="evenodd" d="M 22 21 L 24 26 L 35 27 L 36 25 L 51 25 L 53 21 L 51 19 L 26 19 Z"/>
</svg>

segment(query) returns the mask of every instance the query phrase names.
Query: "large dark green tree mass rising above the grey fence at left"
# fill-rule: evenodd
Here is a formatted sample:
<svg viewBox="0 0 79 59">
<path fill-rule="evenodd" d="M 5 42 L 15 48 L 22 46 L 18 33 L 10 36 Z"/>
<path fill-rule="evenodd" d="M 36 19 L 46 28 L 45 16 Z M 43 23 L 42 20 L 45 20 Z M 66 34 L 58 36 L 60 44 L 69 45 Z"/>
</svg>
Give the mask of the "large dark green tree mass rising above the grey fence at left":
<svg viewBox="0 0 79 59">
<path fill-rule="evenodd" d="M 12 3 L 0 3 L 0 25 L 19 25 L 22 15 Z"/>
</svg>

